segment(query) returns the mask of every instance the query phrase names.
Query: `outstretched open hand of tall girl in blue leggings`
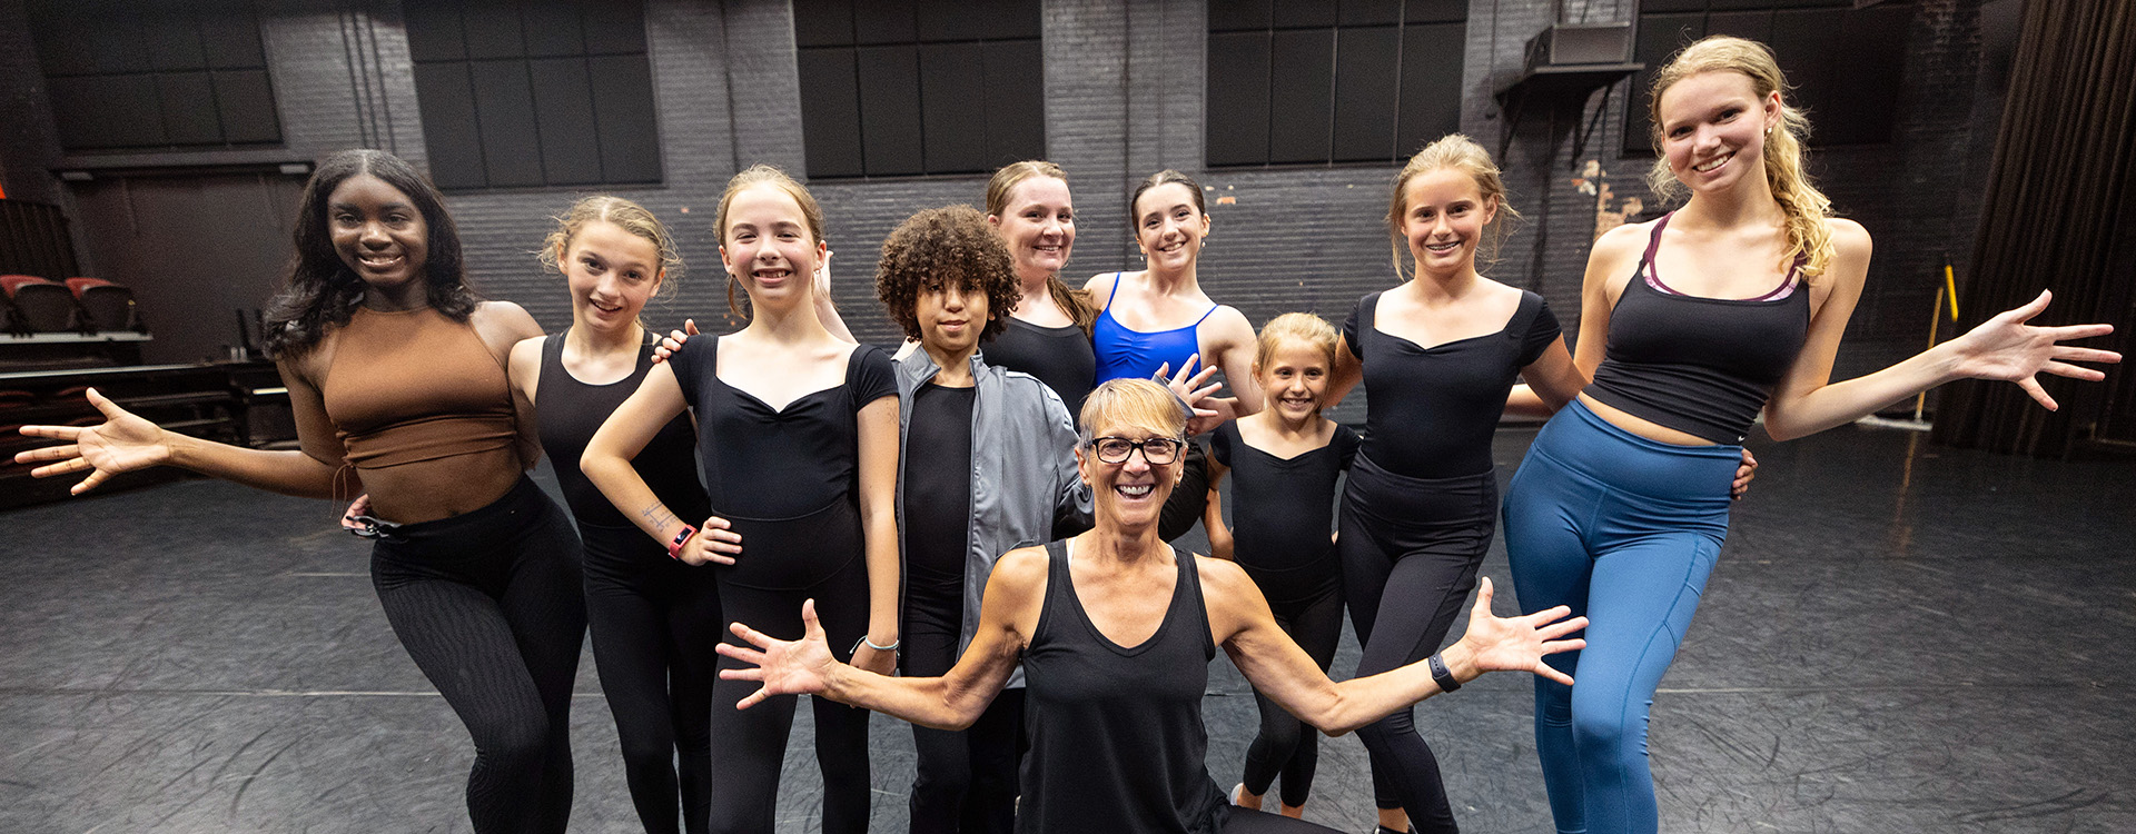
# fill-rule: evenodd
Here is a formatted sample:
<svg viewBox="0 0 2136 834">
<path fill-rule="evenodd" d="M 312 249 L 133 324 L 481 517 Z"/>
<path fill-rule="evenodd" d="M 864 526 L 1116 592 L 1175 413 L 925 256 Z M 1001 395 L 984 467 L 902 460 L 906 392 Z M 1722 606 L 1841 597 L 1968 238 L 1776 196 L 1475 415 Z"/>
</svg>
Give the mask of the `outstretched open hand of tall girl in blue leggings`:
<svg viewBox="0 0 2136 834">
<path fill-rule="evenodd" d="M 2087 382 L 2106 380 L 2106 371 L 2070 363 L 2113 365 L 2121 360 L 2121 354 L 2113 350 L 2070 348 L 2061 341 L 2102 337 L 2115 333 L 2113 324 L 2025 324 L 2033 316 L 2040 316 L 2053 299 L 2053 292 L 2040 290 L 2040 296 L 2031 299 L 2029 305 L 2008 309 L 1950 339 L 1948 348 L 1957 356 L 1952 371 L 1961 378 L 2016 382 L 2019 388 L 2025 388 L 2048 412 L 2057 410 L 2057 405 L 2055 397 L 2048 397 L 2040 388 L 2040 371 Z"/>
</svg>

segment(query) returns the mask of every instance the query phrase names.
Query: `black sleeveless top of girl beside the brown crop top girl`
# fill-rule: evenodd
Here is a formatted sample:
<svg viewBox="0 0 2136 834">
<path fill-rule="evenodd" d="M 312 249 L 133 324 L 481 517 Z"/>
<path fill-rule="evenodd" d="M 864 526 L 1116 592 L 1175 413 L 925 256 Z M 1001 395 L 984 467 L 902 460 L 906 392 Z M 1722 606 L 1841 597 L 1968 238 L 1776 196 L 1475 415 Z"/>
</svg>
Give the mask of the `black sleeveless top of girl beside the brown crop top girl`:
<svg viewBox="0 0 2136 834">
<path fill-rule="evenodd" d="M 557 486 L 564 488 L 564 503 L 570 506 L 572 518 L 581 525 L 630 527 L 630 518 L 615 510 L 615 503 L 609 503 L 609 497 L 600 495 L 600 488 L 579 471 L 579 456 L 585 454 L 585 444 L 594 439 L 594 431 L 600 431 L 609 414 L 615 414 L 615 407 L 624 405 L 639 390 L 639 384 L 645 382 L 645 371 L 651 371 L 651 367 L 654 341 L 647 339 L 639 348 L 639 367 L 630 375 L 604 386 L 585 384 L 564 369 L 562 333 L 540 343 L 540 380 L 534 382 L 534 416 L 540 420 L 540 448 L 555 467 Z M 677 518 L 703 523 L 711 514 L 711 508 L 705 503 L 705 486 L 696 482 L 696 467 L 690 456 L 694 448 L 696 431 L 690 429 L 690 416 L 677 414 L 669 424 L 660 427 L 660 433 L 645 444 L 639 456 L 630 459 L 630 467 L 639 471 L 639 478 L 645 478 L 645 486 L 651 486 L 654 497 L 666 503 Z"/>
</svg>

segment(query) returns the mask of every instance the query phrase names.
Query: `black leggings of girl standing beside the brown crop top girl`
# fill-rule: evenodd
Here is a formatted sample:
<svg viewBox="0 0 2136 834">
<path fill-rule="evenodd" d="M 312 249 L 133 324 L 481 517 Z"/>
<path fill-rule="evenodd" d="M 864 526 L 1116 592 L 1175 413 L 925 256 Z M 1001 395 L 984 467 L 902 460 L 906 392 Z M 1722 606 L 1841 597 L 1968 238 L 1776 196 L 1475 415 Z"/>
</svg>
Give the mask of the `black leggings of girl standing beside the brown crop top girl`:
<svg viewBox="0 0 2136 834">
<path fill-rule="evenodd" d="M 637 527 L 579 523 L 579 540 L 594 668 L 615 715 L 639 823 L 649 834 L 701 834 L 711 808 L 711 683 L 720 659 L 711 646 L 726 627 L 720 587 L 711 567 L 669 559 Z"/>
</svg>

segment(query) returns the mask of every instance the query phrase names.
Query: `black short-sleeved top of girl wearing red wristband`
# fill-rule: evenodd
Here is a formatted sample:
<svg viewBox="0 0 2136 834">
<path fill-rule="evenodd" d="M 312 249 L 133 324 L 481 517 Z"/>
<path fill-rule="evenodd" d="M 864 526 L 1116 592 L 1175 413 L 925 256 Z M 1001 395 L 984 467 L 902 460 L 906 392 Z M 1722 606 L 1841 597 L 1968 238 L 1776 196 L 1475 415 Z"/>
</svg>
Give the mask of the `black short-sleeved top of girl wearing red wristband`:
<svg viewBox="0 0 2136 834">
<path fill-rule="evenodd" d="M 852 495 L 861 471 L 861 407 L 897 397 L 891 356 L 857 346 L 846 382 L 771 410 L 718 378 L 720 339 L 690 339 L 669 363 L 696 410 L 698 465 L 713 512 L 795 518 Z"/>
</svg>

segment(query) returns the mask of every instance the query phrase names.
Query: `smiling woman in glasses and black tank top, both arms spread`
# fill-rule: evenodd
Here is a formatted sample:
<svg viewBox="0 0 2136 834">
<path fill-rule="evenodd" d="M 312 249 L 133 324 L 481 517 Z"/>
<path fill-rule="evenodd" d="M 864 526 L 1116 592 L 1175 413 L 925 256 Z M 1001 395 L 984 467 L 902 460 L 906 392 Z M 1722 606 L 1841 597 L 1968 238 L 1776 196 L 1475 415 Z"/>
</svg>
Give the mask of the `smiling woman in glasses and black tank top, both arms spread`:
<svg viewBox="0 0 2136 834">
<path fill-rule="evenodd" d="M 1098 527 L 1004 555 L 987 580 L 978 633 L 948 674 L 891 678 L 839 663 L 814 610 L 803 608 L 803 642 L 735 623 L 756 648 L 720 644 L 720 653 L 760 668 L 720 676 L 763 680 L 743 706 L 814 693 L 929 727 L 963 727 L 1021 659 L 1032 751 L 1019 832 L 1331 832 L 1232 808 L 1209 779 L 1200 704 L 1215 646 L 1256 689 L 1335 734 L 1482 670 L 1546 670 L 1542 655 L 1581 646 L 1553 640 L 1583 621 L 1491 616 L 1487 587 L 1467 636 L 1431 663 L 1329 680 L 1275 625 L 1245 572 L 1158 538 L 1160 508 L 1181 474 L 1185 418 L 1177 397 L 1149 380 L 1091 390 L 1077 461 L 1096 493 Z"/>
</svg>

